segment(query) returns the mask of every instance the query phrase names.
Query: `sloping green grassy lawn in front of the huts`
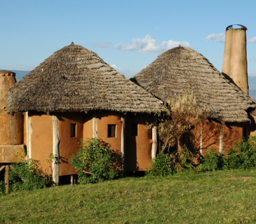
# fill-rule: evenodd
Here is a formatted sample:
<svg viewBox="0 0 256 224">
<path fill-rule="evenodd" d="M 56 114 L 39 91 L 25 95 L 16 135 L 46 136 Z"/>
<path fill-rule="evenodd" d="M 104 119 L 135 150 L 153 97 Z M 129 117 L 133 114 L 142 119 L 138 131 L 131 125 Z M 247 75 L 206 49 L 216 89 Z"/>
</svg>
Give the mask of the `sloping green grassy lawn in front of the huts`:
<svg viewBox="0 0 256 224">
<path fill-rule="evenodd" d="M 0 223 L 256 223 L 256 170 L 56 186 L 0 201 Z"/>
</svg>

